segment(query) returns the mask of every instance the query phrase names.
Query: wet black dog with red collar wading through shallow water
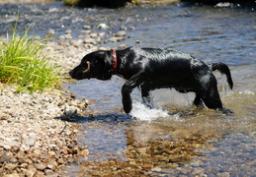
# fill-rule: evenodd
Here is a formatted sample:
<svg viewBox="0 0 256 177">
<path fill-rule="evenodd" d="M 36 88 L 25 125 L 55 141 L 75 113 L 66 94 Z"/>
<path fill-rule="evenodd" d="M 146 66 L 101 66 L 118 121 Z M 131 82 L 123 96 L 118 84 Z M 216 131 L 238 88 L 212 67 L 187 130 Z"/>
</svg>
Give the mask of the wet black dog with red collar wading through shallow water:
<svg viewBox="0 0 256 177">
<path fill-rule="evenodd" d="M 85 55 L 69 74 L 76 80 L 110 80 L 113 75 L 128 80 L 122 88 L 126 113 L 132 108 L 130 92 L 136 87 L 141 90 L 143 102 L 147 105 L 150 105 L 150 90 L 174 88 L 180 92 L 194 91 L 196 106 L 203 105 L 204 101 L 209 108 L 222 110 L 214 70 L 226 75 L 232 89 L 232 78 L 225 64 L 205 64 L 189 54 L 172 49 L 128 47 L 117 51 L 95 51 Z"/>
</svg>

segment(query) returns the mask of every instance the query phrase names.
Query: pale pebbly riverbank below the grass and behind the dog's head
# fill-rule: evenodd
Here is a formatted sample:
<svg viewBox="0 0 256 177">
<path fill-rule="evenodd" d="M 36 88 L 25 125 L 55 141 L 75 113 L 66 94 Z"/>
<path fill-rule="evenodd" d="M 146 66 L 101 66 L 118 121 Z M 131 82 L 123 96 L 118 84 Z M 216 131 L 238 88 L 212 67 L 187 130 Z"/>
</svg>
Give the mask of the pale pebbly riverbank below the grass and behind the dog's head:
<svg viewBox="0 0 256 177">
<path fill-rule="evenodd" d="M 72 39 L 68 29 L 44 48 L 49 62 L 63 71 L 63 78 L 86 53 L 99 49 L 104 38 L 105 33 L 93 33 L 89 26 L 84 29 L 78 40 Z M 48 34 L 53 35 L 54 30 L 49 29 Z M 123 30 L 108 41 L 125 36 Z M 17 93 L 15 86 L 1 84 L 0 100 L 1 177 L 63 176 L 65 165 L 88 155 L 86 146 L 76 141 L 79 125 L 62 121 L 74 112 L 82 114 L 88 100 L 76 99 L 66 90 Z"/>
</svg>

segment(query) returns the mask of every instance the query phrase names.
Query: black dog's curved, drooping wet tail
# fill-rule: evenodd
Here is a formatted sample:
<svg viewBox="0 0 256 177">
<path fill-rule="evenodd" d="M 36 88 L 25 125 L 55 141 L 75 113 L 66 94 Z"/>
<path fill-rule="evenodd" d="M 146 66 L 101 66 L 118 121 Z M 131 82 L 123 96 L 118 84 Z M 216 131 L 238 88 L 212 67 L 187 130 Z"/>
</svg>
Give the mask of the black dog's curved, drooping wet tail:
<svg viewBox="0 0 256 177">
<path fill-rule="evenodd" d="M 232 81 L 230 70 L 227 65 L 220 63 L 220 62 L 212 63 L 212 64 L 210 64 L 210 68 L 212 68 L 212 71 L 215 71 L 215 70 L 219 71 L 221 73 L 221 75 L 225 74 L 226 81 L 228 83 L 229 88 L 233 89 L 233 81 Z"/>
</svg>

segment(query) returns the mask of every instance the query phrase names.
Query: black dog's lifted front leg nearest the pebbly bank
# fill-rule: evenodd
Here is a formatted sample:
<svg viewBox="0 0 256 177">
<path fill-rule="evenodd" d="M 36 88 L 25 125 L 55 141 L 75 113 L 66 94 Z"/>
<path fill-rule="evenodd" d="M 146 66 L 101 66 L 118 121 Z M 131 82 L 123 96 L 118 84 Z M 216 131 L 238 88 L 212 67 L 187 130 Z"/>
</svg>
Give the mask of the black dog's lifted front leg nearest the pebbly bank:
<svg viewBox="0 0 256 177">
<path fill-rule="evenodd" d="M 132 89 L 138 87 L 146 78 L 147 74 L 145 72 L 140 72 L 134 76 L 132 76 L 127 83 L 122 88 L 122 96 L 123 96 L 123 106 L 125 112 L 128 114 L 132 108 L 132 102 L 130 98 L 130 92 Z"/>
</svg>

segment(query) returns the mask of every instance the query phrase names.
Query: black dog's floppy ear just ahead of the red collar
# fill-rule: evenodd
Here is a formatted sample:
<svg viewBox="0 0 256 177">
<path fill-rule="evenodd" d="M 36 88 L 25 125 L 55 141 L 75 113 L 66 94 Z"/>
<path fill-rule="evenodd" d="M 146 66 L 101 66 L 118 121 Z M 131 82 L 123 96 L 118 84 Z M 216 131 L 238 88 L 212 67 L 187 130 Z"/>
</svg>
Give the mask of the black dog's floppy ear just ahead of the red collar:
<svg viewBox="0 0 256 177">
<path fill-rule="evenodd" d="M 99 80 L 110 80 L 113 75 L 113 61 L 110 51 L 100 51 L 99 57 L 97 57 L 99 62 L 104 64 L 102 74 L 97 78 Z"/>
</svg>

